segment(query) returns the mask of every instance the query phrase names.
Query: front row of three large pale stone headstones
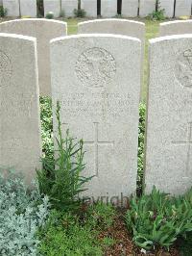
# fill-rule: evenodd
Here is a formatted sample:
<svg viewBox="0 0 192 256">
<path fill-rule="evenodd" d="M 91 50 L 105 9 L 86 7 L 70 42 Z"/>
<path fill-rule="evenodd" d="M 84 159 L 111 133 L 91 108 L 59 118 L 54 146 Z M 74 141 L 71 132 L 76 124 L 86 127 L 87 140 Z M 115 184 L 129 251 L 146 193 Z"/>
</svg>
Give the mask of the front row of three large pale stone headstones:
<svg viewBox="0 0 192 256">
<path fill-rule="evenodd" d="M 187 32 L 187 26 L 169 22 L 161 36 L 184 27 Z M 191 44 L 192 35 L 150 41 L 146 192 L 156 185 L 180 194 L 191 186 Z M 40 167 L 40 58 L 36 38 L 0 34 L 0 166 L 23 171 L 28 182 Z M 84 175 L 95 175 L 88 186 L 94 198 L 135 192 L 141 58 L 138 38 L 83 34 L 51 40 L 53 112 L 59 100 L 63 131 L 84 139 Z"/>
</svg>

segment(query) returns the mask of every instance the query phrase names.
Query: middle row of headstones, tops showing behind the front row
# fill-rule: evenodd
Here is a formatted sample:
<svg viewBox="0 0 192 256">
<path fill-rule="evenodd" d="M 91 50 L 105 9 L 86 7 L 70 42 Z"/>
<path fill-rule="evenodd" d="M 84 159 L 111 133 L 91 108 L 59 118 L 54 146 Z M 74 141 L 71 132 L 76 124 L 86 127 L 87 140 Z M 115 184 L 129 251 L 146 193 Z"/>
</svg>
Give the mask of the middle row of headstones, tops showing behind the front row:
<svg viewBox="0 0 192 256">
<path fill-rule="evenodd" d="M 192 31 L 192 21 L 173 21 L 160 24 L 160 36 Z M 40 95 L 51 95 L 49 41 L 67 35 L 67 24 L 58 20 L 25 18 L 0 23 L 0 33 L 12 33 L 36 38 L 38 55 L 38 84 Z M 144 57 L 145 24 L 125 19 L 95 19 L 78 24 L 79 34 L 119 34 L 139 38 Z M 141 66 L 143 77 L 143 65 Z M 142 79 L 142 78 L 141 78 Z"/>
</svg>

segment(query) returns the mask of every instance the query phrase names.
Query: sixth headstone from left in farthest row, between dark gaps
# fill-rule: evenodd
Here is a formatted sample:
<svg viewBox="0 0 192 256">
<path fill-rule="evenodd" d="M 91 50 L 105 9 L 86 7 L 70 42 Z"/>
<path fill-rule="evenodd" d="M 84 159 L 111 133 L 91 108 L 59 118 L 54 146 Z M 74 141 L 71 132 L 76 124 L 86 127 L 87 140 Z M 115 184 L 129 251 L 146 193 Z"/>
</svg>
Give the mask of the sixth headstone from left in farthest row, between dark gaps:
<svg viewBox="0 0 192 256">
<path fill-rule="evenodd" d="M 101 15 L 113 17 L 117 14 L 117 0 L 101 0 Z"/>
</svg>

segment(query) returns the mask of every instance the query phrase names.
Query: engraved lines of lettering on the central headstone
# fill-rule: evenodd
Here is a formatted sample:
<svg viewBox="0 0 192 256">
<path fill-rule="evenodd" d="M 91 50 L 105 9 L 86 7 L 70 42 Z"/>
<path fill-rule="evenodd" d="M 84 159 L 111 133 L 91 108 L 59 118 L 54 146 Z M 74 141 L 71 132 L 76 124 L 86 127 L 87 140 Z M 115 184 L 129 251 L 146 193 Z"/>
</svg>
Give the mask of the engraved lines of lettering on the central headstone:
<svg viewBox="0 0 192 256">
<path fill-rule="evenodd" d="M 65 93 L 60 100 L 65 115 L 100 116 L 110 115 L 120 117 L 128 114 L 132 106 L 129 93 Z"/>
</svg>

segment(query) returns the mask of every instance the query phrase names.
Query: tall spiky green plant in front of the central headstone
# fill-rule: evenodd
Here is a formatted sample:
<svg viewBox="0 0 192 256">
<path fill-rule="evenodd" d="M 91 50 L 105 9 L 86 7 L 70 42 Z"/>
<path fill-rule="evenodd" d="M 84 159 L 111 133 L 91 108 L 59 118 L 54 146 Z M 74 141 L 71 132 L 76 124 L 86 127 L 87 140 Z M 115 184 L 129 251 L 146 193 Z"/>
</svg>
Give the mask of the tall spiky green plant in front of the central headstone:
<svg viewBox="0 0 192 256">
<path fill-rule="evenodd" d="M 82 176 L 84 141 L 71 138 L 68 130 L 66 138 L 62 138 L 59 102 L 56 117 L 59 135 L 56 139 L 58 149 L 55 150 L 55 158 L 42 158 L 43 168 L 36 171 L 39 190 L 49 196 L 50 202 L 57 209 L 75 209 L 81 203 L 79 193 L 86 190 L 84 185 L 92 177 Z"/>
</svg>

